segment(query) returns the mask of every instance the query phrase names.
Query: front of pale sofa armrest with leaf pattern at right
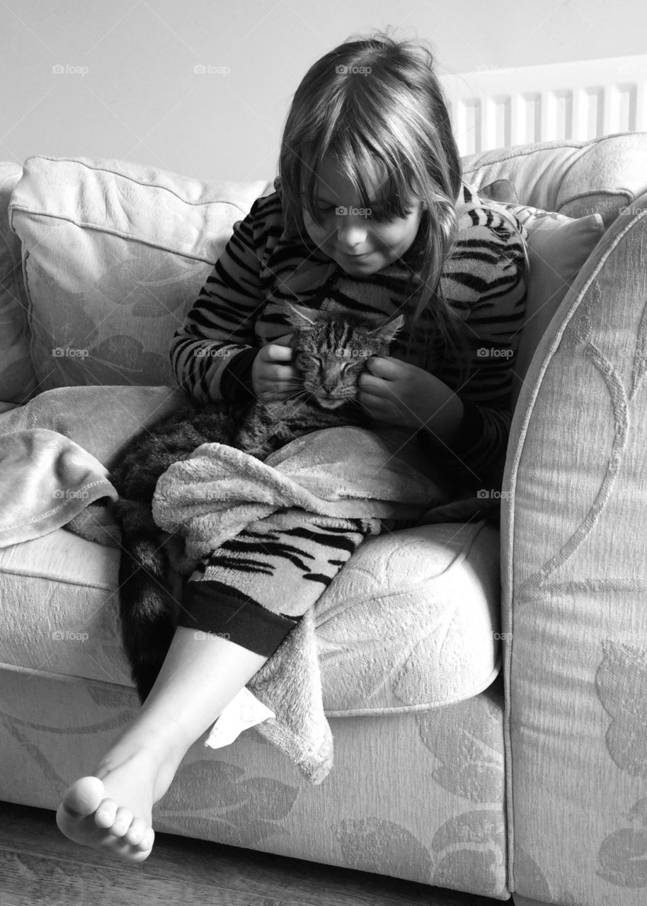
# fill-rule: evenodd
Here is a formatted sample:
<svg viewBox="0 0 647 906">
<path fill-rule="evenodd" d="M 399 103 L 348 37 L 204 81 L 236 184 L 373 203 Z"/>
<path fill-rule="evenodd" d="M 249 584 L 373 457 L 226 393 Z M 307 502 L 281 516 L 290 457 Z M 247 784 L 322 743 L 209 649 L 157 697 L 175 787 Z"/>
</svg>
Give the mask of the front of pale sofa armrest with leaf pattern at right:
<svg viewBox="0 0 647 906">
<path fill-rule="evenodd" d="M 614 221 L 526 375 L 502 507 L 510 888 L 647 890 L 647 195 Z"/>
</svg>

